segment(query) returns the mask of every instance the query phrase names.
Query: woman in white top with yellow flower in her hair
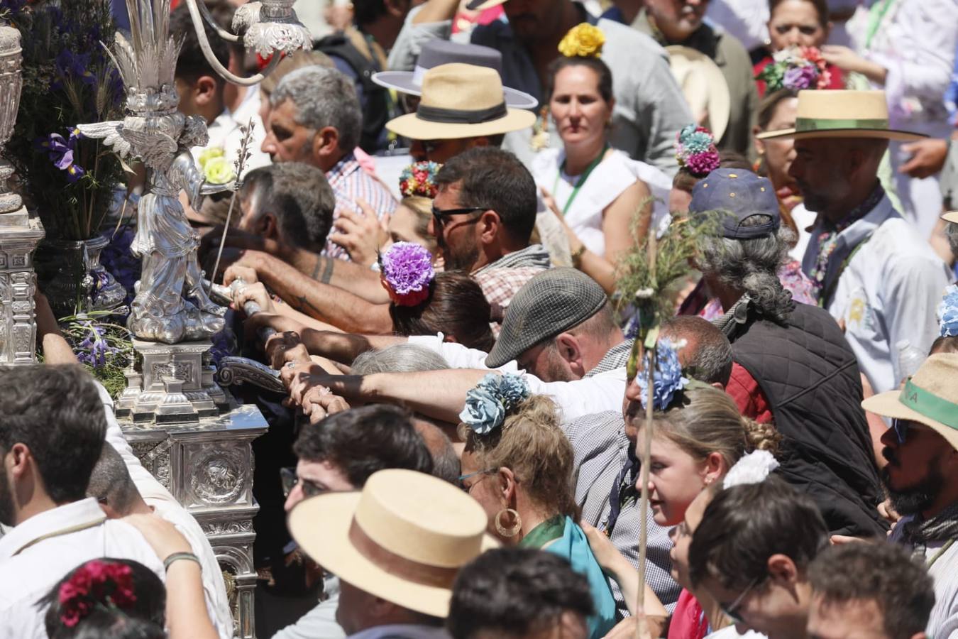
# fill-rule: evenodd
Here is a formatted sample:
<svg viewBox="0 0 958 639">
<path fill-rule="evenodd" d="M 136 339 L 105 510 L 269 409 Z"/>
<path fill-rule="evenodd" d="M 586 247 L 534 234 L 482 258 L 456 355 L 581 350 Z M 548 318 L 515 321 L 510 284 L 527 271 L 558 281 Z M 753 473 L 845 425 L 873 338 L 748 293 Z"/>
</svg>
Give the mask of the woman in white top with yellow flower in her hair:
<svg viewBox="0 0 958 639">
<path fill-rule="evenodd" d="M 546 95 L 562 148 L 537 153 L 532 173 L 559 218 L 573 265 L 611 293 L 616 260 L 667 217 L 671 180 L 609 146 L 615 99 L 601 59 L 557 58 Z"/>
</svg>

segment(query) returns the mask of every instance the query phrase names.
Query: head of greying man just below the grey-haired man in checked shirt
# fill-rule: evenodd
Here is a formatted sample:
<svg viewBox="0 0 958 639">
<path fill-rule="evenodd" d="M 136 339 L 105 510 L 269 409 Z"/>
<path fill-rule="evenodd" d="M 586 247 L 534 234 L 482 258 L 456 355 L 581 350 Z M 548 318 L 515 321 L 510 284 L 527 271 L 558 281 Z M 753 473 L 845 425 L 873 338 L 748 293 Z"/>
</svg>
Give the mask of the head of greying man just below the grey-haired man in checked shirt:
<svg viewBox="0 0 958 639">
<path fill-rule="evenodd" d="M 240 231 L 274 240 L 277 247 L 319 253 L 330 233 L 336 197 L 323 171 L 305 162 L 283 162 L 250 171 L 239 206 Z"/>
</svg>

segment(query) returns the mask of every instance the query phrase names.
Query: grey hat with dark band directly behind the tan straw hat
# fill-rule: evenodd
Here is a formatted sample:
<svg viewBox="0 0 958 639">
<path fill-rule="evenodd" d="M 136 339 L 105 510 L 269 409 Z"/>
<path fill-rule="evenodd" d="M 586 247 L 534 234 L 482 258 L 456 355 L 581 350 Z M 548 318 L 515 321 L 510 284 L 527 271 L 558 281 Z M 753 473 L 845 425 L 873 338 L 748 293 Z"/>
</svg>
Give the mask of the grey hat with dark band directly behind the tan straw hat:
<svg viewBox="0 0 958 639">
<path fill-rule="evenodd" d="M 502 54 L 496 49 L 479 44 L 429 40 L 422 45 L 422 52 L 416 58 L 416 68 L 413 71 L 380 71 L 373 74 L 373 81 L 387 89 L 418 96 L 422 93 L 422 77 L 426 71 L 453 62 L 488 66 L 502 75 Z M 538 104 L 536 98 L 523 91 L 508 86 L 504 86 L 502 91 L 506 96 L 506 106 L 536 108 Z"/>
</svg>

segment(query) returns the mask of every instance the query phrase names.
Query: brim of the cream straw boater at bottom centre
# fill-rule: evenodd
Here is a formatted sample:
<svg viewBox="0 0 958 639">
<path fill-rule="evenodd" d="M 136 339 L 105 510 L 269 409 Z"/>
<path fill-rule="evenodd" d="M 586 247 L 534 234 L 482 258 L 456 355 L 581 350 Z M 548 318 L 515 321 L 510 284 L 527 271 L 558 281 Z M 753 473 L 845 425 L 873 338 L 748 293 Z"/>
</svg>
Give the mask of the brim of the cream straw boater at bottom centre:
<svg viewBox="0 0 958 639">
<path fill-rule="evenodd" d="M 311 559 L 342 581 L 404 608 L 445 618 L 451 590 L 392 575 L 366 559 L 350 542 L 350 526 L 360 496 L 359 492 L 330 492 L 300 502 L 289 513 L 289 533 Z M 483 536 L 483 552 L 498 546 L 494 538 Z"/>
</svg>

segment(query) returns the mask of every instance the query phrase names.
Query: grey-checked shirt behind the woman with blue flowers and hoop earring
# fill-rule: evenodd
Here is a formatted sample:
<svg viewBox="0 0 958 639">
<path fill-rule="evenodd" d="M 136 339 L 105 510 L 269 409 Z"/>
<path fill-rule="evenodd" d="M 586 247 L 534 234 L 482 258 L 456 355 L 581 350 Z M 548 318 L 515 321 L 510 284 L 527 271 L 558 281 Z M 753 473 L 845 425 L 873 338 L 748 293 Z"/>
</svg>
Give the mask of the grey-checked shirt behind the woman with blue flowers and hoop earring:
<svg viewBox="0 0 958 639">
<path fill-rule="evenodd" d="M 629 343 L 629 346 L 631 344 Z M 609 352 L 611 353 L 611 351 Z M 627 356 L 627 355 L 626 355 Z M 611 510 L 609 500 L 612 485 L 619 479 L 623 469 L 631 462 L 628 459 L 626 424 L 618 411 L 585 415 L 563 425 L 565 435 L 575 450 L 578 470 L 576 502 L 582 508 L 582 519 L 599 530 L 606 530 Z M 623 484 L 623 504 L 610 538 L 615 547 L 638 570 L 639 567 L 639 492 L 635 489 L 636 477 L 629 471 Z M 682 587 L 673 580 L 670 570 L 672 539 L 670 528 L 659 526 L 649 511 L 649 536 L 646 545 L 646 582 L 663 605 L 672 612 Z M 612 594 L 621 613 L 627 608 L 618 584 L 610 582 Z"/>
</svg>

